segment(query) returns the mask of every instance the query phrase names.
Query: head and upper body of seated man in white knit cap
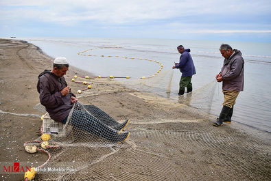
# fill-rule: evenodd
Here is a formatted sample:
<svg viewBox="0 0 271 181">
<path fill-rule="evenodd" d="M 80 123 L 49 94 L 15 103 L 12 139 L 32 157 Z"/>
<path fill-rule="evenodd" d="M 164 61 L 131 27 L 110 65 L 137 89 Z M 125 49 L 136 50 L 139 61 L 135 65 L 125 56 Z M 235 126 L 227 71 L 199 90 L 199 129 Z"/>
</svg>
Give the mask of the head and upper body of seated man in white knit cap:
<svg viewBox="0 0 271 181">
<path fill-rule="evenodd" d="M 54 59 L 53 69 L 45 70 L 38 76 L 40 103 L 56 122 L 66 122 L 73 104 L 78 101 L 64 79 L 67 70 L 69 70 L 67 59 L 57 57 Z"/>
</svg>

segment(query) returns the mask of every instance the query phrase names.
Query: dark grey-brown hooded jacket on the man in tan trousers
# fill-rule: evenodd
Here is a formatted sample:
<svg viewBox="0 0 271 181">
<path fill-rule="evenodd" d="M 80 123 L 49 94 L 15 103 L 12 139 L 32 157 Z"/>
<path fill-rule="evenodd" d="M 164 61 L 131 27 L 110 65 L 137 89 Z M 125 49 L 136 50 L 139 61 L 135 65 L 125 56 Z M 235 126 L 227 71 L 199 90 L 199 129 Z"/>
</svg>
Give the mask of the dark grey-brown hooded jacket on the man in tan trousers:
<svg viewBox="0 0 271 181">
<path fill-rule="evenodd" d="M 221 69 L 223 90 L 244 90 L 244 59 L 241 51 L 233 50 L 234 53 L 228 59 L 224 59 Z"/>
</svg>

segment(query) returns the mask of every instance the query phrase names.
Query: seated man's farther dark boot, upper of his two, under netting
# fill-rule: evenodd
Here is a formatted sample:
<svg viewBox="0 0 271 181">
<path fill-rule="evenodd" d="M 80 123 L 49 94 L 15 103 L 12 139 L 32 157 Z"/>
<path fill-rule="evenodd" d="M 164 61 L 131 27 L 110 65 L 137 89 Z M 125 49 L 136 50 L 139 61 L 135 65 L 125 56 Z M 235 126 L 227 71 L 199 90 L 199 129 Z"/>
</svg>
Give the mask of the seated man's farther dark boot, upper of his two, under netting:
<svg viewBox="0 0 271 181">
<path fill-rule="evenodd" d="M 100 120 L 102 123 L 106 124 L 106 126 L 109 126 L 110 128 L 113 128 L 115 130 L 123 130 L 130 121 L 126 120 L 122 124 L 119 124 L 119 122 L 117 122 L 112 117 L 110 117 L 110 115 L 102 111 L 102 109 L 95 107 L 95 105 L 84 105 L 84 109 L 86 109 L 86 111 L 96 117 L 97 120 Z"/>
</svg>

